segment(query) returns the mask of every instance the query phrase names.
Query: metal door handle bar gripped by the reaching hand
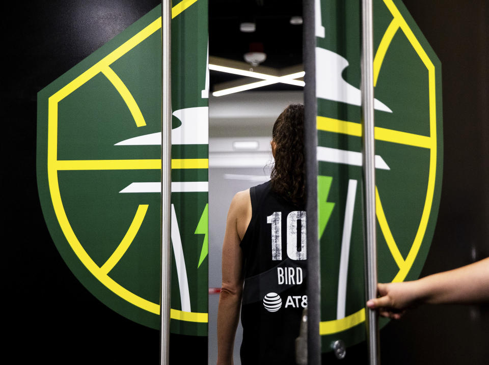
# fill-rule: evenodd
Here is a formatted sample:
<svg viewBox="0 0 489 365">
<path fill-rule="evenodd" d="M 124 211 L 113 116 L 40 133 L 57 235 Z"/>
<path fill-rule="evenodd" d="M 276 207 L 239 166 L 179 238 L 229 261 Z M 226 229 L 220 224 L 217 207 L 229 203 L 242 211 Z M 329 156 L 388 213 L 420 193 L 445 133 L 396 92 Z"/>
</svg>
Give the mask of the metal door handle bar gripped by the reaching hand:
<svg viewBox="0 0 489 365">
<path fill-rule="evenodd" d="M 373 120 L 373 16 L 372 0 L 362 0 L 362 118 L 365 199 L 365 295 L 377 295 L 377 240 L 375 226 L 375 149 Z M 365 308 L 369 364 L 379 364 L 378 316 Z"/>
</svg>

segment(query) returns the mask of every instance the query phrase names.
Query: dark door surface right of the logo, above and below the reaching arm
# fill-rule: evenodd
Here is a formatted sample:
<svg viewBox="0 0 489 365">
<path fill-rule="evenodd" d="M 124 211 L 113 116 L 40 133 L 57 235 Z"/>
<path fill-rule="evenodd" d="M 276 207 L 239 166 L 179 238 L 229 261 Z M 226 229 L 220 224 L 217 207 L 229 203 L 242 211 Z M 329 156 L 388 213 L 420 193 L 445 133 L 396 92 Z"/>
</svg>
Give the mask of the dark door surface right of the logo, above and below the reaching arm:
<svg viewBox="0 0 489 365">
<path fill-rule="evenodd" d="M 489 256 L 489 6 L 404 4 L 442 62 L 442 198 L 424 276 Z M 489 305 L 423 306 L 389 325 L 381 341 L 387 364 L 486 364 Z"/>
</svg>

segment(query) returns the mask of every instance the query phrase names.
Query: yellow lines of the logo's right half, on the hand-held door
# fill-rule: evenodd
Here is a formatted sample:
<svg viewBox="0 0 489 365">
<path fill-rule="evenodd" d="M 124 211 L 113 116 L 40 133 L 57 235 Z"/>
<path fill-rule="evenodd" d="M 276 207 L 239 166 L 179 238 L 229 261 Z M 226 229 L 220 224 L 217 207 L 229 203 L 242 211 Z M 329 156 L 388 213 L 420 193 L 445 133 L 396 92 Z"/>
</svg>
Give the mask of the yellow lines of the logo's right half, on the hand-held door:
<svg viewBox="0 0 489 365">
<path fill-rule="evenodd" d="M 428 55 L 422 48 L 419 41 L 416 39 L 414 33 L 411 31 L 408 23 L 404 20 L 399 10 L 396 8 L 392 0 L 384 0 L 387 8 L 393 15 L 393 19 L 378 46 L 377 52 L 375 53 L 375 58 L 373 62 L 374 71 L 374 86 L 376 85 L 378 74 L 381 70 L 384 57 L 386 55 L 387 49 L 397 32 L 401 29 L 406 38 L 413 46 L 414 50 L 418 54 L 423 64 L 428 70 L 428 92 L 429 92 L 429 129 L 430 136 L 421 136 L 417 134 L 404 133 L 395 130 L 378 128 L 375 127 L 375 139 L 379 141 L 387 141 L 393 143 L 400 143 L 404 145 L 416 146 L 428 148 L 430 150 L 430 160 L 429 160 L 429 174 L 428 174 L 428 186 L 426 191 L 426 199 L 423 208 L 423 213 L 421 215 L 421 221 L 416 233 L 415 239 L 409 251 L 408 257 L 404 260 L 397 248 L 394 241 L 392 233 L 389 229 L 389 224 L 385 217 L 384 210 L 382 208 L 382 202 L 378 194 L 377 188 L 375 188 L 375 205 L 376 205 L 376 215 L 381 227 L 382 233 L 387 241 L 387 245 L 391 251 L 391 254 L 399 267 L 399 271 L 392 280 L 392 282 L 402 282 L 408 275 L 416 256 L 418 255 L 419 248 L 423 241 L 424 234 L 428 225 L 428 218 L 431 212 L 431 206 L 433 203 L 433 193 L 434 193 L 434 182 L 436 178 L 437 170 L 437 120 L 436 120 L 436 95 L 435 95 L 435 75 L 434 75 L 434 65 L 429 60 Z M 317 117 L 317 129 L 327 130 L 337 133 L 345 133 L 349 135 L 362 135 L 361 124 L 352 123 L 346 121 L 334 120 L 331 118 Z M 354 327 L 365 321 L 365 307 L 361 310 L 351 314 L 345 318 L 322 321 L 319 322 L 319 334 L 327 335 L 337 332 L 344 331 L 351 327 Z"/>
</svg>

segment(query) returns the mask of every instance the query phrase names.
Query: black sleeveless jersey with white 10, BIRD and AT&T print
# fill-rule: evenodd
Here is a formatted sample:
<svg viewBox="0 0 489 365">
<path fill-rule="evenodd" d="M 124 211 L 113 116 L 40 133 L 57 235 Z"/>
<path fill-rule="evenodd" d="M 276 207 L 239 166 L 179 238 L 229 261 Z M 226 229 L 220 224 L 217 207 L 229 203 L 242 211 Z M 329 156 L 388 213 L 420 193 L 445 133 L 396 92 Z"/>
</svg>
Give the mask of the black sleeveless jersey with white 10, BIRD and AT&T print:
<svg viewBox="0 0 489 365">
<path fill-rule="evenodd" d="M 295 364 L 306 295 L 306 212 L 271 191 L 250 189 L 252 218 L 241 241 L 243 364 Z"/>
</svg>

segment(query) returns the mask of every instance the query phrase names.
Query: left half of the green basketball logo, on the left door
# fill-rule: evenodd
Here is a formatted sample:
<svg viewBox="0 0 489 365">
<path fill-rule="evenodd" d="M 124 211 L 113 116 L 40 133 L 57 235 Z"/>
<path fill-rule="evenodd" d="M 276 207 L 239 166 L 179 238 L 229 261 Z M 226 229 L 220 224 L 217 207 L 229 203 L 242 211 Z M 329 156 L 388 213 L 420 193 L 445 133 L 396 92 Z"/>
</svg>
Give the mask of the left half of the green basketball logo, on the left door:
<svg viewBox="0 0 489 365">
<path fill-rule="evenodd" d="M 185 29 L 199 17 L 199 29 Z M 199 60 L 197 71 L 186 70 L 199 76 L 192 90 L 173 87 L 186 104 L 175 97 L 172 331 L 205 335 L 208 140 L 195 135 L 207 130 L 206 2 L 184 0 L 172 18 L 180 44 L 188 47 L 185 37 L 198 31 L 205 39 L 204 49 L 173 49 Z M 160 132 L 160 7 L 38 95 L 38 186 L 53 241 L 97 298 L 153 328 L 160 312 Z"/>
</svg>

